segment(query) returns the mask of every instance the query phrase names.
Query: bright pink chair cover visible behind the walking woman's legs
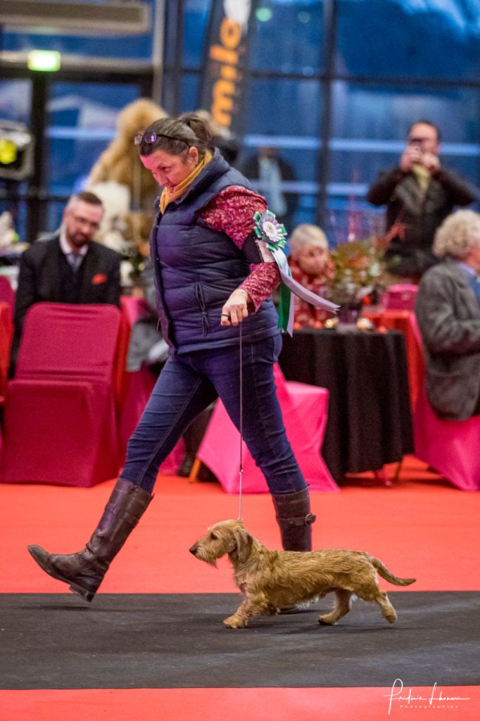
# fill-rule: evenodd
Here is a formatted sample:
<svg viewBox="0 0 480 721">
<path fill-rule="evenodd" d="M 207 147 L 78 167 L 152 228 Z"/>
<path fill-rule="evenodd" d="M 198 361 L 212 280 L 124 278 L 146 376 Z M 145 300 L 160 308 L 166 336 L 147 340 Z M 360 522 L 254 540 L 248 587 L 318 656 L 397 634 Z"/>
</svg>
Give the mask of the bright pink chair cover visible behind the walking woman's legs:
<svg viewBox="0 0 480 721">
<path fill-rule="evenodd" d="M 329 392 L 324 388 L 285 381 L 275 366 L 277 396 L 288 439 L 310 490 L 338 491 L 320 454 L 327 420 Z M 245 493 L 268 492 L 267 482 L 245 443 L 242 446 Z M 227 493 L 239 491 L 240 435 L 218 400 L 197 457 L 208 466 Z"/>
</svg>

